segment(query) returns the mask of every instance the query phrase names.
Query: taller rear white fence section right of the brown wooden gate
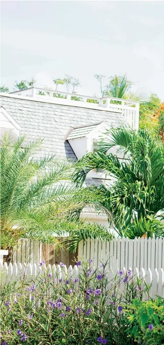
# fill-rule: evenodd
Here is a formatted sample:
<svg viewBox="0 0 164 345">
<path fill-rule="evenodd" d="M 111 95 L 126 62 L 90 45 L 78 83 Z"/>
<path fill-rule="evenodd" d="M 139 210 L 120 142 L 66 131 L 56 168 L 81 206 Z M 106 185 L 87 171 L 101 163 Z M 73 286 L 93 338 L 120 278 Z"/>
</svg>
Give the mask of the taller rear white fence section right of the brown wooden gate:
<svg viewBox="0 0 164 345">
<path fill-rule="evenodd" d="M 139 271 L 143 267 L 145 271 L 149 268 L 151 271 L 164 270 L 164 238 L 115 238 L 110 242 L 88 238 L 85 243 L 79 243 L 78 257 L 93 259 L 95 268 L 108 260 L 108 268 L 114 271 L 123 267 L 138 267 Z"/>
</svg>

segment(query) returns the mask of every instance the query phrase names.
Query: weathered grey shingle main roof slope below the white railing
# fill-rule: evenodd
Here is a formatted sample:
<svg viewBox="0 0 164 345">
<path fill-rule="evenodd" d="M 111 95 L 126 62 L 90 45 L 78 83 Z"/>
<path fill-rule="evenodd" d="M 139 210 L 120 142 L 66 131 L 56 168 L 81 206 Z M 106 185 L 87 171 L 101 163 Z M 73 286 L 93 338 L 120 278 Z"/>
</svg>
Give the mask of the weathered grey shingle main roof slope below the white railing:
<svg viewBox="0 0 164 345">
<path fill-rule="evenodd" d="M 89 130 L 92 124 L 95 126 L 95 122 L 105 121 L 109 127 L 125 123 L 120 113 L 23 100 L 12 98 L 12 95 L 2 96 L 1 105 L 20 125 L 20 135 L 25 134 L 26 141 L 40 137 L 44 139 L 44 154 L 57 154 L 73 160 L 76 160 L 76 156 L 68 141 L 64 141 L 70 127 L 88 126 Z"/>
</svg>

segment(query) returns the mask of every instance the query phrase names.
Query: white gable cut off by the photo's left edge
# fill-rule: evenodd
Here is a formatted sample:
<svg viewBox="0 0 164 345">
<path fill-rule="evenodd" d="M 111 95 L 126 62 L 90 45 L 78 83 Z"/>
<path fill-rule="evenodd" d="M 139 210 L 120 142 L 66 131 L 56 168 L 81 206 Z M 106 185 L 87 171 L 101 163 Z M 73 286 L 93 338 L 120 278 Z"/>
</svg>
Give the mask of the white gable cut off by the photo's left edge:
<svg viewBox="0 0 164 345">
<path fill-rule="evenodd" d="M 0 108 L 0 128 L 1 132 L 11 131 L 12 136 L 15 138 L 19 136 L 21 130 L 19 124 L 3 107 Z"/>
</svg>

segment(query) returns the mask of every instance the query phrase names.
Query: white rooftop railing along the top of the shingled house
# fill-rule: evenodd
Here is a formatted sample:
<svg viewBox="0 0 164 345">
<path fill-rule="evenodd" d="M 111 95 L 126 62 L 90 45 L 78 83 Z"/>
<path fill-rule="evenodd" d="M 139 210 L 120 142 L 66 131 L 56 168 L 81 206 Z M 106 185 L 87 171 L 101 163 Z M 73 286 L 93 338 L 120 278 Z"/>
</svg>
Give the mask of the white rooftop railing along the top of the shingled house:
<svg viewBox="0 0 164 345">
<path fill-rule="evenodd" d="M 140 103 L 114 97 L 90 97 L 78 93 L 56 91 L 48 88 L 31 87 L 11 92 L 12 95 L 33 97 L 35 99 L 56 104 L 71 105 L 121 113 L 129 126 L 135 130 L 139 128 Z M 96 101 L 91 103 L 89 100 Z"/>
</svg>

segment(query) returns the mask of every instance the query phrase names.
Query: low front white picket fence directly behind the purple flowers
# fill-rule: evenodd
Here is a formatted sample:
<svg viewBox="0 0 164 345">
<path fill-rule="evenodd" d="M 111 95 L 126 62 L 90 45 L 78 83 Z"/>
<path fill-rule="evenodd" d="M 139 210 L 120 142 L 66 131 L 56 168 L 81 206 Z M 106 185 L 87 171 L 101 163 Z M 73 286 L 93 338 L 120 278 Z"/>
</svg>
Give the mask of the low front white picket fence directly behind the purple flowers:
<svg viewBox="0 0 164 345">
<path fill-rule="evenodd" d="M 90 265 L 91 268 L 94 269 L 93 263 Z M 129 267 L 131 269 L 131 267 Z M 40 273 L 45 273 L 48 275 L 50 274 L 49 279 L 53 281 L 53 284 L 56 284 L 57 280 L 59 279 L 68 279 L 68 278 L 75 278 L 78 276 L 79 271 L 81 268 L 77 267 L 76 265 L 72 268 L 69 266 L 68 269 L 66 266 L 61 268 L 60 265 L 43 265 L 39 266 L 36 264 L 21 264 L 21 263 L 10 263 L 9 266 L 7 263 L 4 265 L 0 265 L 0 274 L 1 274 L 1 281 L 2 283 L 9 283 L 10 281 L 19 281 L 25 278 L 26 281 L 35 281 L 37 276 L 40 276 Z M 124 273 L 126 272 L 125 267 L 123 268 Z M 102 272 L 102 266 L 98 268 L 98 271 Z M 116 268 L 113 270 L 112 268 L 105 268 L 105 275 L 108 278 L 108 281 L 111 281 L 113 277 L 117 274 L 118 269 Z M 162 268 L 154 269 L 153 271 L 148 268 L 145 270 L 142 268 L 139 270 L 138 268 L 134 268 L 132 270 L 133 279 L 136 280 L 137 277 L 143 279 L 142 286 L 144 281 L 146 281 L 147 285 L 151 285 L 149 296 L 155 298 L 156 295 L 164 297 L 164 271 Z M 122 291 L 125 285 L 121 284 L 118 286 Z M 147 299 L 147 295 L 145 294 L 145 299 Z"/>
</svg>

